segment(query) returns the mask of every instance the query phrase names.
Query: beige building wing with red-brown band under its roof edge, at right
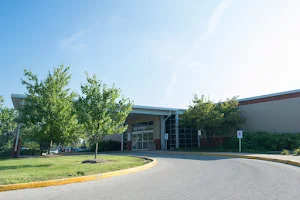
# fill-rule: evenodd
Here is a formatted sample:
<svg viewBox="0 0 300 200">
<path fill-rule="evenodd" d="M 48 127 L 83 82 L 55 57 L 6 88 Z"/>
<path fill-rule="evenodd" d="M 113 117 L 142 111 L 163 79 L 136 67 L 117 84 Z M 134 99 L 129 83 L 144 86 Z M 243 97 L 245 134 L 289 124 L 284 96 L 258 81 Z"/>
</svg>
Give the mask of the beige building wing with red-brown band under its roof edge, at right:
<svg viewBox="0 0 300 200">
<path fill-rule="evenodd" d="M 245 131 L 300 133 L 300 90 L 240 99 L 239 107 Z"/>
</svg>

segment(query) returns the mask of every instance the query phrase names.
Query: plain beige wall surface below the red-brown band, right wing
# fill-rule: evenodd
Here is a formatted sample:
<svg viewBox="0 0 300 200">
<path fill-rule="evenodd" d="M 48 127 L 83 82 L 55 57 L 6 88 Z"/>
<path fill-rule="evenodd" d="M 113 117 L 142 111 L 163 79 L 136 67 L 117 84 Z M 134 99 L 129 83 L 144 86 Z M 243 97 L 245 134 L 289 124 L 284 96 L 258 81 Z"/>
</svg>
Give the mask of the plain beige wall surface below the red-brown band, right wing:
<svg viewBox="0 0 300 200">
<path fill-rule="evenodd" d="M 241 105 L 240 110 L 247 118 L 244 131 L 300 133 L 300 97 Z"/>
</svg>

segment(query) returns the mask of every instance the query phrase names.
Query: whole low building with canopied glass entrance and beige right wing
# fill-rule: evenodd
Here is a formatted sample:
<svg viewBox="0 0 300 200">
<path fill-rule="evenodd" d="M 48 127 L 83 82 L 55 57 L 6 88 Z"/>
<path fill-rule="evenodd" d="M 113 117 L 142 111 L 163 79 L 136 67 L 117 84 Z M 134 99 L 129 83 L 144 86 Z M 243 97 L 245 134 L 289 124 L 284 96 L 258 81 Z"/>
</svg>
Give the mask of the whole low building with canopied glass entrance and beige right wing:
<svg viewBox="0 0 300 200">
<path fill-rule="evenodd" d="M 14 108 L 25 103 L 25 95 L 11 95 Z M 247 118 L 242 127 L 246 132 L 266 131 L 300 133 L 300 90 L 251 97 L 239 100 L 241 113 Z M 185 109 L 134 105 L 124 134 L 113 134 L 105 139 L 122 142 L 127 150 L 163 150 L 206 146 L 205 135 L 198 130 L 181 126 L 180 115 Z M 165 140 L 165 133 L 168 140 Z M 235 136 L 235 131 L 225 137 Z M 213 143 L 214 144 L 214 143 Z"/>
</svg>

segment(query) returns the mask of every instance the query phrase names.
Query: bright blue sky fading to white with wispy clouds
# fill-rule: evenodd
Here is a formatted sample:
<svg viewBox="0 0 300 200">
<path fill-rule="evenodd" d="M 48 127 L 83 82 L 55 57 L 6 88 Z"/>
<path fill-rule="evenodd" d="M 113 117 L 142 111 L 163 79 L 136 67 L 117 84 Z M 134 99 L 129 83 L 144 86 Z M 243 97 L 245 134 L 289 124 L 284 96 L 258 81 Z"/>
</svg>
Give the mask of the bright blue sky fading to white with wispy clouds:
<svg viewBox="0 0 300 200">
<path fill-rule="evenodd" d="M 186 108 L 300 89 L 298 0 L 1 1 L 0 95 L 25 94 L 23 69 L 40 79 L 71 67 L 113 83 L 137 105 Z"/>
</svg>

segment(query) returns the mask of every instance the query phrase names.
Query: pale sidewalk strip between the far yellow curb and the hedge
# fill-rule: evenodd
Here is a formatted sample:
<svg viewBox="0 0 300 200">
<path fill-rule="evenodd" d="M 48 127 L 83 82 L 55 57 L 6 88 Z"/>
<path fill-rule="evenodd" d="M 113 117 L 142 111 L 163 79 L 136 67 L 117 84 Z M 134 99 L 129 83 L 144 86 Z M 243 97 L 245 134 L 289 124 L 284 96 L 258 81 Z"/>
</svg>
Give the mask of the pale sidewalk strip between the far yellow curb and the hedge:
<svg viewBox="0 0 300 200">
<path fill-rule="evenodd" d="M 201 155 L 201 156 L 224 156 L 233 158 L 246 158 L 256 160 L 266 160 L 280 162 L 300 167 L 300 156 L 276 155 L 276 154 L 255 154 L 255 153 L 234 153 L 234 152 L 188 152 L 188 151 L 151 151 L 154 154 L 181 154 L 181 155 Z"/>
</svg>

